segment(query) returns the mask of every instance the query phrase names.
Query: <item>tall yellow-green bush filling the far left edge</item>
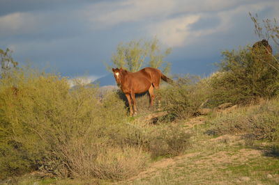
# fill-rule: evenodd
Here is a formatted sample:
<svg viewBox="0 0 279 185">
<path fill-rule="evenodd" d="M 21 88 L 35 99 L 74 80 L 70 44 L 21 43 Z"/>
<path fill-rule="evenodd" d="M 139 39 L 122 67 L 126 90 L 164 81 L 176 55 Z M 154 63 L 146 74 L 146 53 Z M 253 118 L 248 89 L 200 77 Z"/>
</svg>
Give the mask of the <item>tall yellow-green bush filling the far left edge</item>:
<svg viewBox="0 0 279 185">
<path fill-rule="evenodd" d="M 38 167 L 36 161 L 50 148 L 41 130 L 50 126 L 50 114 L 59 111 L 57 104 L 68 92 L 66 79 L 26 73 L 16 70 L 13 78 L 0 80 L 0 173 L 5 174 L 1 178 Z"/>
</svg>

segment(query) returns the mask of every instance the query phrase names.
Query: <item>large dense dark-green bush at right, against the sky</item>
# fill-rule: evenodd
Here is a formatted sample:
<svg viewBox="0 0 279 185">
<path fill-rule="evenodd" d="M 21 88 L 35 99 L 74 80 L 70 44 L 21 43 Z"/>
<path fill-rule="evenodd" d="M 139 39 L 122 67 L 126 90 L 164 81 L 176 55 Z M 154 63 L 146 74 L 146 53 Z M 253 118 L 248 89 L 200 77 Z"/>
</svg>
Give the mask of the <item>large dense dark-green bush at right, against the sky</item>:
<svg viewBox="0 0 279 185">
<path fill-rule="evenodd" d="M 265 52 L 266 53 L 266 52 Z M 248 104 L 258 97 L 274 97 L 279 93 L 279 68 L 276 56 L 262 56 L 250 47 L 224 51 L 220 70 L 208 79 L 209 104 L 225 102 Z"/>
</svg>

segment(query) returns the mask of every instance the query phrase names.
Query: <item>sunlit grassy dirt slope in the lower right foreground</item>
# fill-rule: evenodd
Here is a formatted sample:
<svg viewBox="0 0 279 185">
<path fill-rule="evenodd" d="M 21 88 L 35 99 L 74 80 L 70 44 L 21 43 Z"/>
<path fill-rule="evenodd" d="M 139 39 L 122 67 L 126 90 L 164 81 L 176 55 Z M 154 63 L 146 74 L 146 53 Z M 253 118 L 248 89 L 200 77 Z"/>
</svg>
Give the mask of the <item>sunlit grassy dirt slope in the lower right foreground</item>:
<svg viewBox="0 0 279 185">
<path fill-rule="evenodd" d="M 278 151 L 261 141 L 253 147 L 241 136 L 214 138 L 199 117 L 184 123 L 194 134 L 192 147 L 182 156 L 151 163 L 139 175 L 115 184 L 279 184 Z M 111 184 L 98 179 L 39 179 L 22 177 L 20 184 Z"/>
</svg>

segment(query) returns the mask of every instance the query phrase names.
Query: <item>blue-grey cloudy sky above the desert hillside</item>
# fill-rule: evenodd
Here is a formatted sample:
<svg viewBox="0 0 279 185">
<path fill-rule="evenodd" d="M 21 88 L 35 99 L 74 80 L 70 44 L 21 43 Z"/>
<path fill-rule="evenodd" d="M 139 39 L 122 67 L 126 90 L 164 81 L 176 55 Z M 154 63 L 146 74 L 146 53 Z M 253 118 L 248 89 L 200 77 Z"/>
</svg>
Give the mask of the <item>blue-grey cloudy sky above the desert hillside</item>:
<svg viewBox="0 0 279 185">
<path fill-rule="evenodd" d="M 108 74 L 119 42 L 155 36 L 173 74 L 210 74 L 221 51 L 257 41 L 248 13 L 279 18 L 278 0 L 0 0 L 0 48 L 67 77 Z"/>
</svg>

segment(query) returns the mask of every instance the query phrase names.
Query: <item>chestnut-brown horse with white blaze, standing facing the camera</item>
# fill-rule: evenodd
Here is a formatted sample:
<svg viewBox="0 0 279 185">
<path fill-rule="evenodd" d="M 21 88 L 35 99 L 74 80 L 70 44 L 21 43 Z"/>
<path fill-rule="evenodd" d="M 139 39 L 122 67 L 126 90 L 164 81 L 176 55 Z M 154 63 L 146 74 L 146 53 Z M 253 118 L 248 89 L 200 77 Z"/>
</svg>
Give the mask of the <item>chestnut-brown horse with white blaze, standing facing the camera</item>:
<svg viewBox="0 0 279 185">
<path fill-rule="evenodd" d="M 122 67 L 120 69 L 112 68 L 112 72 L 117 85 L 128 99 L 130 115 L 137 114 L 135 94 L 149 91 L 150 106 L 153 106 L 153 100 L 155 99 L 153 91 L 154 88 L 158 89 L 160 87 L 160 79 L 168 83 L 172 82 L 172 79 L 167 78 L 160 70 L 153 67 L 145 67 L 138 72 L 128 72 L 123 70 Z"/>
</svg>

